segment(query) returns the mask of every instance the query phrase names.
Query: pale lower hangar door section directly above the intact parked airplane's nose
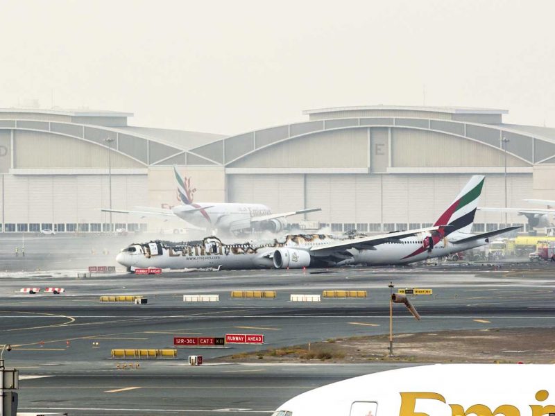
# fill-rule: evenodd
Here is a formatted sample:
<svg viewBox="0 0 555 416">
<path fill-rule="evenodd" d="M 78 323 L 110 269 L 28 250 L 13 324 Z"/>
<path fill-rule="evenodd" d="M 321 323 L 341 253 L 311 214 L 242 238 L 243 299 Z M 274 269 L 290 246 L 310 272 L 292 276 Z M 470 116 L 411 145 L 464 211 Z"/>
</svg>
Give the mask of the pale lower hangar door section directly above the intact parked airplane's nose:
<svg viewBox="0 0 555 416">
<path fill-rule="evenodd" d="M 264 204 L 272 212 L 304 208 L 304 175 L 229 175 L 229 202 Z M 290 217 L 295 223 L 302 216 Z"/>
</svg>

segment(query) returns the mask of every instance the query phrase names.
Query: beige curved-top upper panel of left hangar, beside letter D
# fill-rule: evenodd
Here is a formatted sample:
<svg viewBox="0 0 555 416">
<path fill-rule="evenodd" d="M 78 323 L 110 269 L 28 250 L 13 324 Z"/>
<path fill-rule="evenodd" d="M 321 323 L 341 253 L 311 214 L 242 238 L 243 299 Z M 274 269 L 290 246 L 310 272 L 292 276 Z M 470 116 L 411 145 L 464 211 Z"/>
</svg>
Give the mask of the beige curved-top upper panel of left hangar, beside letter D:
<svg viewBox="0 0 555 416">
<path fill-rule="evenodd" d="M 15 131 L 15 168 L 108 168 L 108 148 L 46 132 Z M 112 150 L 112 168 L 142 168 Z"/>
</svg>

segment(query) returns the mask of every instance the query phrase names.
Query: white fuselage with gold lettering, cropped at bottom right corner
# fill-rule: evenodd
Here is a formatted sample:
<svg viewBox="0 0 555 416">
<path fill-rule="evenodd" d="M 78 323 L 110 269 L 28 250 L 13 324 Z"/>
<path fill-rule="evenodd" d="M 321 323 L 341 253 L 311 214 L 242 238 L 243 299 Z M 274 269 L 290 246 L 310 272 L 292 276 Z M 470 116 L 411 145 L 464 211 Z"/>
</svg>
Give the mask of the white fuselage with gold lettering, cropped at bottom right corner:
<svg viewBox="0 0 555 416">
<path fill-rule="evenodd" d="M 273 416 L 555 415 L 551 367 L 436 364 L 390 370 L 302 393 Z"/>
</svg>

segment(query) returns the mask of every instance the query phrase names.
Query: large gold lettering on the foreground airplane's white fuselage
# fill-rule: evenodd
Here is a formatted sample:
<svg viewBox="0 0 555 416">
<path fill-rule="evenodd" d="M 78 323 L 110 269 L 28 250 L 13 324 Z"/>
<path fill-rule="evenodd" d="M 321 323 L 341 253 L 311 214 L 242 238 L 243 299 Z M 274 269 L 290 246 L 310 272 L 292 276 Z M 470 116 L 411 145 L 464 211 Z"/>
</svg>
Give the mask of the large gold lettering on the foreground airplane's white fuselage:
<svg viewBox="0 0 555 416">
<path fill-rule="evenodd" d="M 445 397 L 434 392 L 406 392 L 401 395 L 401 409 L 399 416 L 433 416 L 428 413 L 416 412 L 417 400 L 436 400 L 447 404 Z M 549 397 L 547 390 L 540 390 L 536 393 L 537 401 L 545 401 Z M 460 404 L 450 404 L 451 416 L 525 416 L 520 410 L 511 404 L 502 404 L 497 406 L 495 410 L 491 410 L 484 404 L 473 404 L 468 409 L 464 409 Z M 532 413 L 531 416 L 546 416 L 555 413 L 555 406 L 549 404 L 541 406 L 538 404 L 529 405 Z M 529 413 L 527 414 L 529 415 Z"/>
</svg>

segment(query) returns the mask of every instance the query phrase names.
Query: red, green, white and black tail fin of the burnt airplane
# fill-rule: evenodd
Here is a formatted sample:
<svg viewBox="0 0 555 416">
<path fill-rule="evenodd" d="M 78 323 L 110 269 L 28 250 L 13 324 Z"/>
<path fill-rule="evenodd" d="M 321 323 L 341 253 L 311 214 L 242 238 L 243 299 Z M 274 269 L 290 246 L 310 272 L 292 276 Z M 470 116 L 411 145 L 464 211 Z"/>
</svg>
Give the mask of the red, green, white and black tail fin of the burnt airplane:
<svg viewBox="0 0 555 416">
<path fill-rule="evenodd" d="M 485 178 L 484 175 L 472 176 L 434 225 L 449 225 L 453 231 L 470 233 Z"/>
</svg>

